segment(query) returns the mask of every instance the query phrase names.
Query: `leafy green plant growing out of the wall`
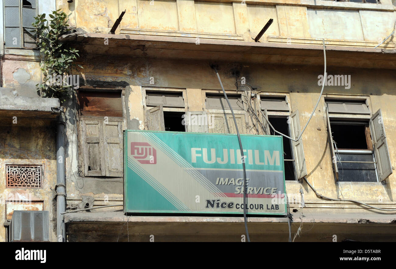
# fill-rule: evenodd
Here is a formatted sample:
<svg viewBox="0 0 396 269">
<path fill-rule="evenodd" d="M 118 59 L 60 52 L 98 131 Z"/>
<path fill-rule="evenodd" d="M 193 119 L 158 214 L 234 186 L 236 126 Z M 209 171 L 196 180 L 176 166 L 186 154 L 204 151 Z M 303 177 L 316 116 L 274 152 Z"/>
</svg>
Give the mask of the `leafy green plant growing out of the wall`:
<svg viewBox="0 0 396 269">
<path fill-rule="evenodd" d="M 59 37 L 69 31 L 69 18 L 60 11 L 58 9 L 49 14 L 49 21 L 45 19 L 45 14 L 38 15 L 32 25 L 36 29 L 37 47 L 42 57 L 40 68 L 44 75 L 44 81 L 36 85 L 37 92 L 42 97 L 56 97 L 63 102 L 74 93 L 73 85 L 67 83 L 67 78 L 72 70 L 78 71 L 83 67 L 74 63 L 80 57 L 78 50 L 59 41 Z"/>
</svg>

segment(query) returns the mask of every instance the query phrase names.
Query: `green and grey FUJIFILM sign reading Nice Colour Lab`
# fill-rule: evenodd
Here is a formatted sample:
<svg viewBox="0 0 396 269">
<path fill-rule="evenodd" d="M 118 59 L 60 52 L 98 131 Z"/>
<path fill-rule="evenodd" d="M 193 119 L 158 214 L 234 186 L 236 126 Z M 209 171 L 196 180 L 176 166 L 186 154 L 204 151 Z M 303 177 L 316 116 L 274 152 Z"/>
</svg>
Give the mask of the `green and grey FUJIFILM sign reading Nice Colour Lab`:
<svg viewBox="0 0 396 269">
<path fill-rule="evenodd" d="M 286 215 L 281 136 L 124 132 L 124 211 Z M 243 168 L 246 164 L 246 204 Z"/>
</svg>

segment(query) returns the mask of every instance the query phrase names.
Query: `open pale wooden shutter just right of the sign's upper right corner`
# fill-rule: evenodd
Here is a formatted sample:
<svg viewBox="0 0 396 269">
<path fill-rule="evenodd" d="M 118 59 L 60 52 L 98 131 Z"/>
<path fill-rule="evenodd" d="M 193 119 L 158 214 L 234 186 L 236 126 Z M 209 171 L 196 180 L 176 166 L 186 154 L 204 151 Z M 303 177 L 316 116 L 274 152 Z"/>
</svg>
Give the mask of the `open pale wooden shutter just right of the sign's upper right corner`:
<svg viewBox="0 0 396 269">
<path fill-rule="evenodd" d="M 296 140 L 301 133 L 298 110 L 292 113 L 289 117 L 291 138 Z M 293 140 L 291 142 L 293 145 L 294 166 L 296 169 L 297 179 L 301 179 L 307 176 L 307 165 L 305 163 L 304 157 L 303 138 L 301 137 L 299 140 L 297 140 L 297 142 Z"/>
</svg>

